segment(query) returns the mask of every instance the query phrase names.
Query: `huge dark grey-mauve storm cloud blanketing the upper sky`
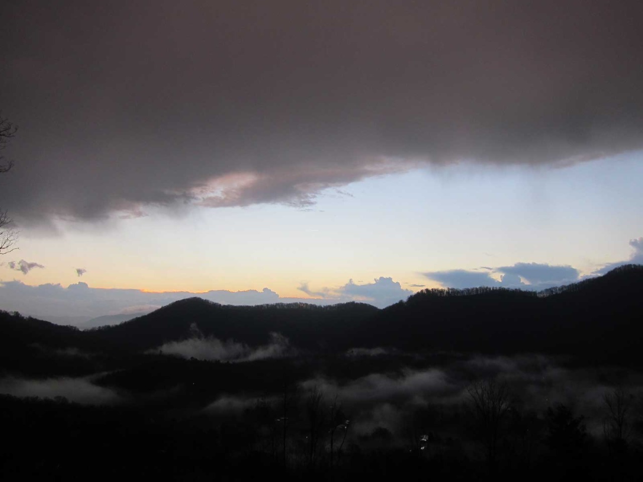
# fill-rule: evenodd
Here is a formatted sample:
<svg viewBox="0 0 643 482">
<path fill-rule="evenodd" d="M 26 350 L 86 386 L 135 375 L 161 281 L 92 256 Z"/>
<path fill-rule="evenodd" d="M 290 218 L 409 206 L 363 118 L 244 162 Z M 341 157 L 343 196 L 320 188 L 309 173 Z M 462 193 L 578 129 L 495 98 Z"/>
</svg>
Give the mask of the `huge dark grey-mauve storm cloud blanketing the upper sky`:
<svg viewBox="0 0 643 482">
<path fill-rule="evenodd" d="M 643 147 L 638 1 L 12 2 L 3 208 L 307 206 L 415 163 Z"/>
</svg>

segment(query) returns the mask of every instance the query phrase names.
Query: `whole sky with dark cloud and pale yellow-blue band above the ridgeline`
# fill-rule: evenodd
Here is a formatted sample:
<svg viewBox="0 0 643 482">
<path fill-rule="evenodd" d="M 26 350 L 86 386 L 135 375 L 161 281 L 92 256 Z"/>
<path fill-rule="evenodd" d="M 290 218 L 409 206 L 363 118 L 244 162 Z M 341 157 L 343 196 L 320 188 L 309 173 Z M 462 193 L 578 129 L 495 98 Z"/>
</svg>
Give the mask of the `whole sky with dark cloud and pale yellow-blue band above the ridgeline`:
<svg viewBox="0 0 643 482">
<path fill-rule="evenodd" d="M 643 262 L 642 21 L 628 0 L 12 1 L 0 308 L 384 307 Z"/>
</svg>

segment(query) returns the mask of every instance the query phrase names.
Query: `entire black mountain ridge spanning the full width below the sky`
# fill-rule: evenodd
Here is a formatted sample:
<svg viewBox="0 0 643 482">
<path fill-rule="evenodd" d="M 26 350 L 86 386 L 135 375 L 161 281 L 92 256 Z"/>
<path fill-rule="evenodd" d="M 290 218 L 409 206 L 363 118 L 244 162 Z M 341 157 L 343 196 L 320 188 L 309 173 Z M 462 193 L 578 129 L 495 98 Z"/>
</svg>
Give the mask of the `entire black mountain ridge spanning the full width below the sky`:
<svg viewBox="0 0 643 482">
<path fill-rule="evenodd" d="M 557 353 L 640 364 L 642 318 L 642 265 L 622 266 L 600 278 L 543 292 L 422 290 L 382 310 L 363 303 L 238 307 L 189 298 L 86 331 L 0 312 L 0 370 L 24 370 L 29 358 L 30 370 L 37 373 L 48 369 L 39 368 L 38 361 L 51 363 L 52 353 L 57 360 L 69 350 L 77 355 L 99 353 L 85 362 L 76 357 L 73 370 L 84 373 L 101 363 L 109 365 L 106 360 L 116 355 L 141 356 L 170 342 L 218 339 L 257 347 L 270 343 L 273 333 L 287 338 L 294 349 L 312 354 L 383 347 L 407 352 Z M 116 321 L 94 321 L 101 319 Z"/>
</svg>

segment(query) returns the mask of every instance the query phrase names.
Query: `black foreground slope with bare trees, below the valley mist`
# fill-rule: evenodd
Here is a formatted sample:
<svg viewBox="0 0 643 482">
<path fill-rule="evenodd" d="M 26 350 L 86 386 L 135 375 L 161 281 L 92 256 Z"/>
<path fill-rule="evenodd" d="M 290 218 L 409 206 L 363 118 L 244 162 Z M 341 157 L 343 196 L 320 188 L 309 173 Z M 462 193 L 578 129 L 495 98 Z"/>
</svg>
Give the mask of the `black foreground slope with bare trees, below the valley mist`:
<svg viewBox="0 0 643 482">
<path fill-rule="evenodd" d="M 468 392 L 459 404 L 406 409 L 394 433 L 380 426 L 361 434 L 352 433 L 355 409 L 284 379 L 278 397 L 257 398 L 234 415 L 0 395 L 6 442 L 0 474 L 3 480 L 563 481 L 570 474 L 639 480 L 640 412 L 619 418 L 613 407 L 633 409 L 640 400 L 618 390 L 606 394 L 604 434 L 597 438 L 571 407 L 530 411 L 511 386 L 492 380 Z"/>
</svg>

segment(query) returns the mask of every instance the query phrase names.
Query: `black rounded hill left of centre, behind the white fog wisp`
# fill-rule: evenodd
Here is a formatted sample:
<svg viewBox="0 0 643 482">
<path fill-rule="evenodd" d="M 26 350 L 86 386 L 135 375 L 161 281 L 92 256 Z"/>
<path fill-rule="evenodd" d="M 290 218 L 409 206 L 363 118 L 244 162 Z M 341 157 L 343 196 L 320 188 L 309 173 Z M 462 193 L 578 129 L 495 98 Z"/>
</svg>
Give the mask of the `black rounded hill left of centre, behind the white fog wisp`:
<svg viewBox="0 0 643 482">
<path fill-rule="evenodd" d="M 346 327 L 366 320 L 377 308 L 365 303 L 318 307 L 305 303 L 276 303 L 255 307 L 219 305 L 187 298 L 120 325 L 92 330 L 87 335 L 102 343 L 149 350 L 168 341 L 191 337 L 233 339 L 250 346 L 268 343 L 271 333 L 287 337 L 307 350 L 334 350 L 343 345 Z"/>
</svg>

